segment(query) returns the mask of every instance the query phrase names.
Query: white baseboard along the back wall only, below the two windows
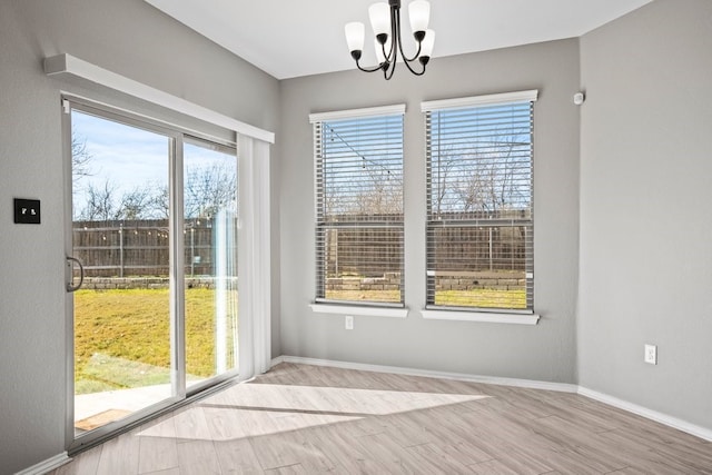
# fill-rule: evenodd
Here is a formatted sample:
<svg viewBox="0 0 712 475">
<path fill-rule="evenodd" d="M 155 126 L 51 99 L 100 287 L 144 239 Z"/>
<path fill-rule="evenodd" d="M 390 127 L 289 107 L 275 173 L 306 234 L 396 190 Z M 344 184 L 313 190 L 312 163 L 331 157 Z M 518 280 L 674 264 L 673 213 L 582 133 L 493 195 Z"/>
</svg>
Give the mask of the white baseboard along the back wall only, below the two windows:
<svg viewBox="0 0 712 475">
<path fill-rule="evenodd" d="M 550 382 L 540 382 L 540 380 L 532 380 L 532 379 L 477 376 L 477 375 L 467 375 L 463 373 L 444 373 L 444 372 L 434 372 L 428 369 L 402 368 L 398 366 L 367 365 L 363 363 L 347 363 L 347 362 L 336 362 L 330 359 L 303 358 L 299 356 L 283 355 L 273 359 L 271 363 L 273 363 L 273 366 L 279 363 L 295 363 L 300 365 L 329 366 L 334 368 L 357 369 L 362 372 L 392 373 L 395 375 L 405 375 L 405 376 L 422 376 L 422 377 L 428 377 L 428 378 L 464 380 L 467 383 L 496 384 L 500 386 L 515 386 L 515 387 L 526 387 L 530 389 L 556 390 L 561 393 L 576 393 L 578 390 L 578 386 L 574 384 L 566 384 L 566 383 L 550 383 Z"/>
</svg>

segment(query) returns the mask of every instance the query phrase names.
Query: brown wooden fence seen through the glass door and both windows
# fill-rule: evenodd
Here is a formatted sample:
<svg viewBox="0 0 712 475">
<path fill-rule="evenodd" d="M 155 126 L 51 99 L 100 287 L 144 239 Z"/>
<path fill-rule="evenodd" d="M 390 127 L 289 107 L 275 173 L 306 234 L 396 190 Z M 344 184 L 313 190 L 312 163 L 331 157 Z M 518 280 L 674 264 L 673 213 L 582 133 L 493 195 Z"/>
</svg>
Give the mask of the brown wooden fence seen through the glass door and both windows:
<svg viewBox="0 0 712 475">
<path fill-rule="evenodd" d="M 236 219 L 231 220 L 237 235 Z M 378 277 L 399 271 L 403 230 L 342 228 L 326 231 L 324 259 L 328 277 Z M 429 266 L 449 271 L 525 270 L 526 236 L 522 226 L 438 228 Z M 184 227 L 187 276 L 215 274 L 215 236 L 209 220 Z M 88 277 L 167 276 L 169 222 L 160 220 L 75 221 L 75 257 Z M 237 256 L 237 249 L 233 249 Z"/>
</svg>

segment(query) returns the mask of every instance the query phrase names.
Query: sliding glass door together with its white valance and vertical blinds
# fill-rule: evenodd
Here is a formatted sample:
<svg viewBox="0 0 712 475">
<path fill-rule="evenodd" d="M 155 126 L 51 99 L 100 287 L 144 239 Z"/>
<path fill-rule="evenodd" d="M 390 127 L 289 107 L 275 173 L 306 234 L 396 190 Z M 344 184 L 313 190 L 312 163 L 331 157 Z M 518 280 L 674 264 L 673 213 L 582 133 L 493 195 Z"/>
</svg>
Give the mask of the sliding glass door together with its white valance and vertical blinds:
<svg viewBox="0 0 712 475">
<path fill-rule="evenodd" d="M 68 443 L 75 451 L 208 386 L 269 368 L 274 133 L 68 55 L 46 58 L 44 66 L 75 86 L 89 80 L 121 92 L 129 109 L 140 100 L 175 123 L 192 117 L 217 133 L 62 98 L 67 340 L 77 352 L 67 355 L 67 398 L 75 404 L 66 429 L 78 429 Z M 80 220 L 99 222 L 77 226 Z M 82 258 L 93 261 L 83 267 L 96 273 L 93 288 L 88 275 L 79 288 Z M 112 281 L 98 281 L 103 277 Z M 77 311 L 101 320 L 95 326 L 101 340 Z M 79 326 L 83 335 L 75 331 Z M 132 329 L 119 331 L 127 326 Z M 98 350 L 78 353 L 92 347 Z M 105 394 L 87 405 L 76 389 L 91 400 L 90 393 Z M 129 393 L 136 400 L 126 406 Z M 75 426 L 81 419 L 87 424 Z"/>
</svg>

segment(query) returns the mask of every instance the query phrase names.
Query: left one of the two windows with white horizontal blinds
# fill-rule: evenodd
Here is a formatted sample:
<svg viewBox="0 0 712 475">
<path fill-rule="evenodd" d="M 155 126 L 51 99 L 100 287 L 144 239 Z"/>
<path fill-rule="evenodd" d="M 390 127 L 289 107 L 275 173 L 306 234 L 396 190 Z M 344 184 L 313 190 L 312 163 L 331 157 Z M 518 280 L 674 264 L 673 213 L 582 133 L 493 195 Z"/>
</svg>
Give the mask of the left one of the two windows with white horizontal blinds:
<svg viewBox="0 0 712 475">
<path fill-rule="evenodd" d="M 316 303 L 403 307 L 404 106 L 312 115 Z"/>
</svg>

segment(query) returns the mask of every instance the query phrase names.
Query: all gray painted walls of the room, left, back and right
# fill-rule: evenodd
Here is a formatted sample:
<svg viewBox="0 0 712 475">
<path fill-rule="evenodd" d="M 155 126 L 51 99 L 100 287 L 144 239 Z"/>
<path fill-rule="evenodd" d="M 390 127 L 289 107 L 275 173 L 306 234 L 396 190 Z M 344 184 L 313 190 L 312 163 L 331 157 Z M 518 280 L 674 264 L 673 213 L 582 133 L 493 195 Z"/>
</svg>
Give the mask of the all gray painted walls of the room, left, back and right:
<svg viewBox="0 0 712 475">
<path fill-rule="evenodd" d="M 141 0 L 1 1 L 0 248 L 13 250 L 0 266 L 0 474 L 61 453 L 66 443 L 60 90 L 194 123 L 100 87 L 47 78 L 42 58 L 61 52 L 277 132 L 273 355 L 581 383 L 712 427 L 711 31 L 709 0 L 656 0 L 581 40 L 435 59 L 422 78 L 400 69 L 390 82 L 358 71 L 278 82 Z M 582 87 L 587 101 L 576 108 L 571 97 Z M 542 320 L 424 320 L 419 102 L 533 88 Z M 346 331 L 343 317 L 308 307 L 307 116 L 397 102 L 408 108 L 411 315 L 357 317 Z M 13 225 L 13 197 L 41 199 L 42 224 Z M 642 363 L 644 343 L 659 345 L 657 366 Z"/>
</svg>

